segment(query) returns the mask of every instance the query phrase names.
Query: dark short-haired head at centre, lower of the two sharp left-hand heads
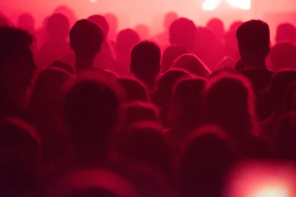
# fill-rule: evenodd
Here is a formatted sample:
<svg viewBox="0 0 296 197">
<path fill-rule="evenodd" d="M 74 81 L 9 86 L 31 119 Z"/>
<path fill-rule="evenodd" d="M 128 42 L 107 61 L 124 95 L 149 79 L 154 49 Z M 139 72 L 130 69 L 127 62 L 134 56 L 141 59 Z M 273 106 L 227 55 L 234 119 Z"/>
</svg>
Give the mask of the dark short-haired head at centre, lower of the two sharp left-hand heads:
<svg viewBox="0 0 296 197">
<path fill-rule="evenodd" d="M 131 51 L 131 71 L 143 81 L 155 79 L 160 71 L 161 50 L 151 41 L 136 44 Z"/>
</svg>

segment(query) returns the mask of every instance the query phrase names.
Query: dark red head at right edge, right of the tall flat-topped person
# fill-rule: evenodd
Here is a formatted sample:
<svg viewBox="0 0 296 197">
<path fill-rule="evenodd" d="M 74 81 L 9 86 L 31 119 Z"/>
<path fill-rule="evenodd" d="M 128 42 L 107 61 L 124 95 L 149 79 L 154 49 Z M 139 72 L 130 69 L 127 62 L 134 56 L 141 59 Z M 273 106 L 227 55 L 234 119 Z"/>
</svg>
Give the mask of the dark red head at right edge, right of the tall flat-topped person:
<svg viewBox="0 0 296 197">
<path fill-rule="evenodd" d="M 270 52 L 270 60 L 273 70 L 296 68 L 296 46 L 292 42 L 279 42 L 275 44 Z"/>
</svg>

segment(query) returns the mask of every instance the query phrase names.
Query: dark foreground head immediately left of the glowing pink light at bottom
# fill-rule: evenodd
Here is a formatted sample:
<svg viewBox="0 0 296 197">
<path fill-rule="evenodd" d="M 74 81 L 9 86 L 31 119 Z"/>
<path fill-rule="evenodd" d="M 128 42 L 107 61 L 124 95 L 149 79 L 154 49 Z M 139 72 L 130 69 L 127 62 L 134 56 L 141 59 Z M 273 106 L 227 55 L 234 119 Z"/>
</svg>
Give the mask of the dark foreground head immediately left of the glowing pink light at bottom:
<svg viewBox="0 0 296 197">
<path fill-rule="evenodd" d="M 185 140 L 179 165 L 180 196 L 222 196 L 233 160 L 232 145 L 220 128 L 205 126 L 194 131 Z"/>
</svg>

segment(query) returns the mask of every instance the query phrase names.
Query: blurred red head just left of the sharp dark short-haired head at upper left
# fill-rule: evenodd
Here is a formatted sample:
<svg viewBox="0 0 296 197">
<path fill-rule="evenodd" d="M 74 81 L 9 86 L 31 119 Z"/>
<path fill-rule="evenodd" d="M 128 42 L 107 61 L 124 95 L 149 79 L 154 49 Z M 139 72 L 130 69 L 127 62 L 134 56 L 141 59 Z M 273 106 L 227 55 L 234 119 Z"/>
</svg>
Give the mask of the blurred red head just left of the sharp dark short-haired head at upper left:
<svg viewBox="0 0 296 197">
<path fill-rule="evenodd" d="M 51 15 L 46 23 L 46 32 L 52 41 L 66 41 L 70 31 L 69 19 L 62 13 Z"/>
</svg>

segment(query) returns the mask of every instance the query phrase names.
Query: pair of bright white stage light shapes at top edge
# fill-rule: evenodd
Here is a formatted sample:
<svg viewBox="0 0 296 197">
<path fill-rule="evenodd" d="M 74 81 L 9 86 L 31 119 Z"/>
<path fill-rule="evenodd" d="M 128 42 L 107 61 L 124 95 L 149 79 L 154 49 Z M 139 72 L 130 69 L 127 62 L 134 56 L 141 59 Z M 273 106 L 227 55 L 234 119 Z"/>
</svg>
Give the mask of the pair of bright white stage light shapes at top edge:
<svg viewBox="0 0 296 197">
<path fill-rule="evenodd" d="M 206 11 L 216 10 L 223 0 L 205 0 L 202 4 L 202 9 Z M 224 0 L 233 8 L 243 10 L 251 9 L 251 0 Z"/>
</svg>

